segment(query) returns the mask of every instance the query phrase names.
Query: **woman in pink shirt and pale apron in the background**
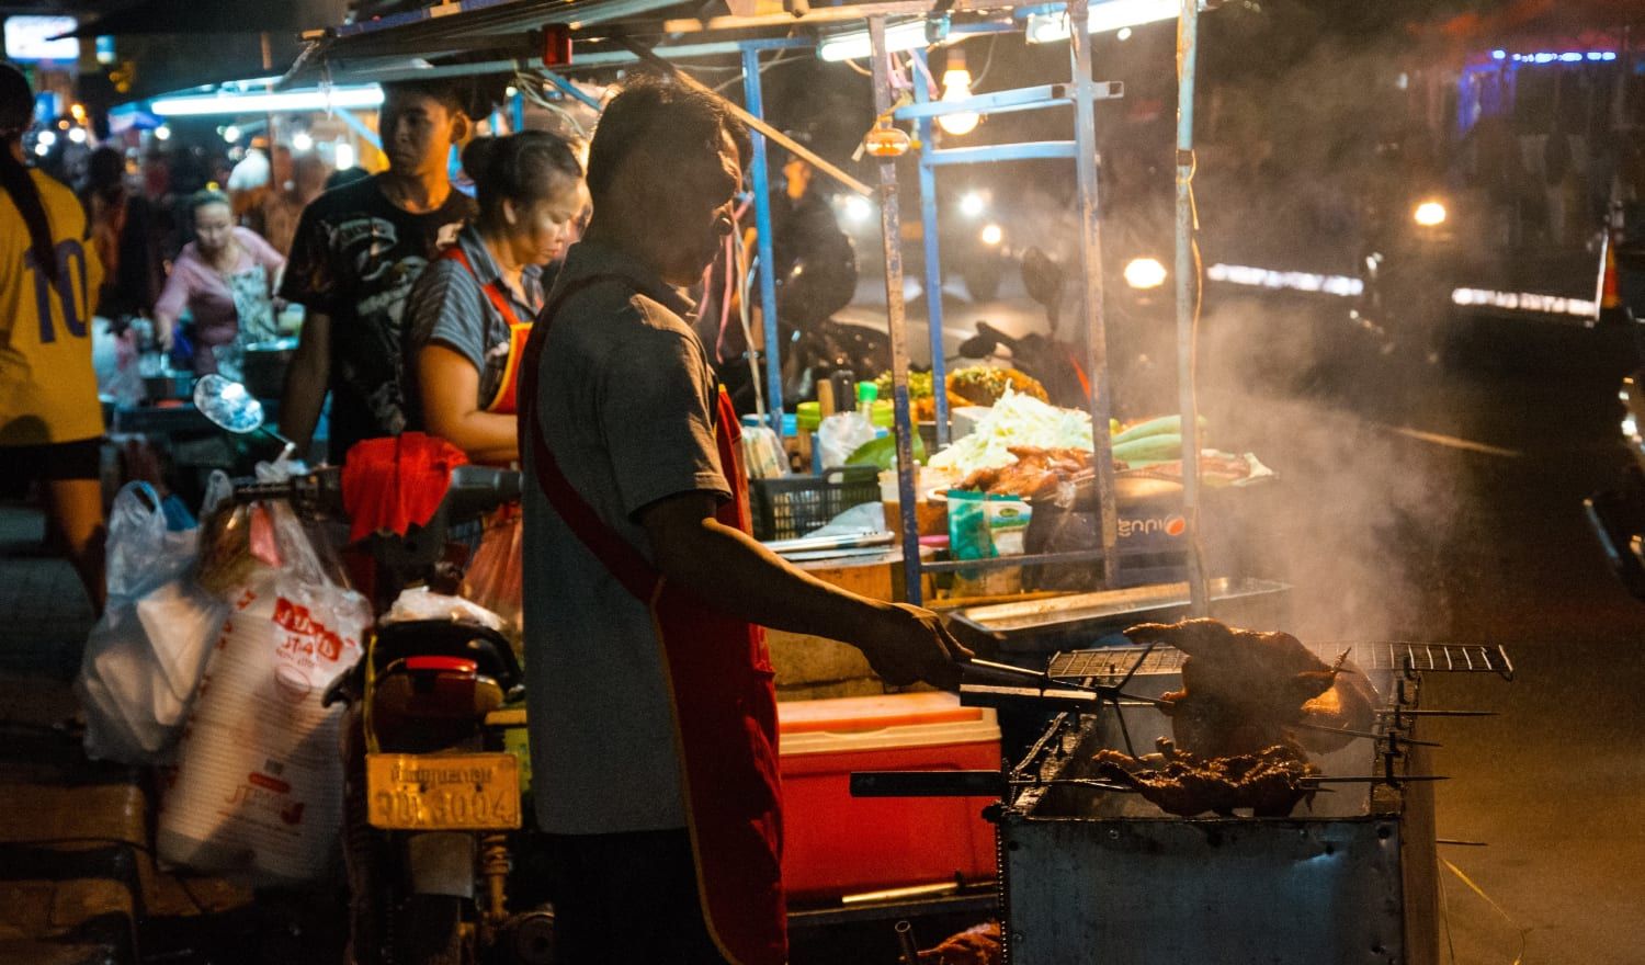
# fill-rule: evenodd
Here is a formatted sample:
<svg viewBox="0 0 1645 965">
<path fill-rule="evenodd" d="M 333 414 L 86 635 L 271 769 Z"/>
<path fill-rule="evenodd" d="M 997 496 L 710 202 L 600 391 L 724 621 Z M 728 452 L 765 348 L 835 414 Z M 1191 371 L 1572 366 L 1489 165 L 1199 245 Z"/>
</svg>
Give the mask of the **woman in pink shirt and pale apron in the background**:
<svg viewBox="0 0 1645 965">
<path fill-rule="evenodd" d="M 160 301 L 155 335 L 168 352 L 184 309 L 194 317 L 194 373 L 242 378 L 242 349 L 276 337 L 273 293 L 286 260 L 257 232 L 234 224 L 229 196 L 189 199 L 194 240 L 183 247 Z"/>
</svg>

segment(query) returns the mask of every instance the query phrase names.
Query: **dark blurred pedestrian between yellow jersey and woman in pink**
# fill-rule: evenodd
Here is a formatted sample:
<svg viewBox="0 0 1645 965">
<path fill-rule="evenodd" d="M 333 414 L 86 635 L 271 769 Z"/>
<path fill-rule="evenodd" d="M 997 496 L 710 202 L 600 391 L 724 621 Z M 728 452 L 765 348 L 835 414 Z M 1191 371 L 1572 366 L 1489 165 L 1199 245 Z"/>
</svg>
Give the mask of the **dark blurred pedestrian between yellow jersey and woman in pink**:
<svg viewBox="0 0 1645 965">
<path fill-rule="evenodd" d="M 109 146 L 92 151 L 81 204 L 86 207 L 92 247 L 104 266 L 97 314 L 120 330 L 132 316 L 155 312 L 155 299 L 166 281 L 155 205 L 141 192 L 132 191 L 125 178 L 125 156 Z"/>
</svg>

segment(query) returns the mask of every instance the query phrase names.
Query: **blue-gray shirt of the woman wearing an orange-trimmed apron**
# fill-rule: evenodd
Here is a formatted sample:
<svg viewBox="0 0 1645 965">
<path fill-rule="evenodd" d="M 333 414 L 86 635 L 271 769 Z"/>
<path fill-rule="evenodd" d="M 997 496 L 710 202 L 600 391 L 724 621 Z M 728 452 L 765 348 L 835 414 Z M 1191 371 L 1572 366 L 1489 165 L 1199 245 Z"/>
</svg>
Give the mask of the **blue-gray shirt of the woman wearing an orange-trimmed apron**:
<svg viewBox="0 0 1645 965">
<path fill-rule="evenodd" d="M 444 345 L 467 358 L 480 373 L 479 406 L 484 409 L 497 398 L 508 368 L 508 322 L 497 311 L 482 286 L 492 284 L 508 296 L 515 317 L 530 322 L 543 307 L 543 270 L 528 265 L 520 273 L 525 291 L 517 293 L 502 283 L 497 261 L 485 250 L 480 232 L 467 225 L 457 235 L 457 245 L 469 256 L 469 271 L 449 258 L 436 258 L 416 279 L 406 299 L 405 314 L 405 376 L 400 390 L 405 396 L 406 429 L 428 429 L 423 414 L 423 391 L 418 380 L 416 353 L 429 344 Z M 520 296 L 525 296 L 525 301 Z"/>
</svg>

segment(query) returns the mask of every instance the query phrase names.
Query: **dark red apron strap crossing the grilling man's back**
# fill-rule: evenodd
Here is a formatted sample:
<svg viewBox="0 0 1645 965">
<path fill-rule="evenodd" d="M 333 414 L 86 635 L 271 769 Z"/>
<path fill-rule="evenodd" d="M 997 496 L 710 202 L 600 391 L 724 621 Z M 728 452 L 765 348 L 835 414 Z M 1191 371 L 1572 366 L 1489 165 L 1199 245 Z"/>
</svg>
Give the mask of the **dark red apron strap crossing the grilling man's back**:
<svg viewBox="0 0 1645 965">
<path fill-rule="evenodd" d="M 543 439 L 541 421 L 536 414 L 536 380 L 541 372 L 543 347 L 548 344 L 548 330 L 554 324 L 554 314 L 559 312 L 559 307 L 572 294 L 607 281 L 623 281 L 623 276 L 591 275 L 563 286 L 543 309 L 538 324 L 531 327 L 531 337 L 526 340 L 525 349 L 525 370 L 520 373 L 523 390 L 520 398 L 520 432 L 530 436 L 530 439 L 521 439 L 521 450 L 530 446 L 536 485 L 548 498 L 548 505 L 571 528 L 572 534 L 610 570 L 612 577 L 630 595 L 642 603 L 651 603 L 663 574 L 633 544 L 600 519 L 594 506 L 571 485 L 571 480 L 566 478 L 566 473 L 559 469 L 559 462 Z"/>
</svg>

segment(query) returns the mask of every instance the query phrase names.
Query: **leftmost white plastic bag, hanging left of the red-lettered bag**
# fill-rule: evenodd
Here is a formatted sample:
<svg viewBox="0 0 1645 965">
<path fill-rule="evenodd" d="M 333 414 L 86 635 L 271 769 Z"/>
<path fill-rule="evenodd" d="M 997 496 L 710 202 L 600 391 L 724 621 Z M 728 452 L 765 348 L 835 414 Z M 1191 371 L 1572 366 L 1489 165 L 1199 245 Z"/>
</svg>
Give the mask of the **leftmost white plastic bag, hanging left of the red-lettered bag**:
<svg viewBox="0 0 1645 965">
<path fill-rule="evenodd" d="M 207 510 L 229 490 L 214 477 Z M 109 605 L 86 641 L 76 694 L 92 760 L 168 760 L 225 607 L 191 579 L 199 529 L 148 483 L 130 483 L 109 515 Z"/>
</svg>

